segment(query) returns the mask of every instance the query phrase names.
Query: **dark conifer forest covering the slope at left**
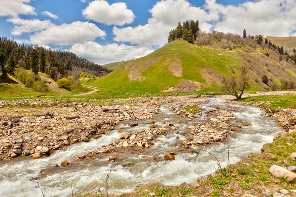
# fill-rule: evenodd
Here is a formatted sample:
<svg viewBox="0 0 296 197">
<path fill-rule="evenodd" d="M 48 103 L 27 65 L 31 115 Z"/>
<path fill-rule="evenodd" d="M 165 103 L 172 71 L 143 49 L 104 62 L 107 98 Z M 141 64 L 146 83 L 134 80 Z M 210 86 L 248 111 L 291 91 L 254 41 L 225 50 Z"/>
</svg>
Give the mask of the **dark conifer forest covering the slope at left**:
<svg viewBox="0 0 296 197">
<path fill-rule="evenodd" d="M 7 77 L 7 74 L 13 75 L 16 67 L 31 69 L 35 74 L 44 72 L 54 80 L 67 75 L 67 71 L 73 67 L 91 71 L 95 76 L 112 71 L 85 58 L 79 58 L 70 51 L 52 51 L 38 45 L 19 45 L 14 39 L 0 37 L 1 78 Z"/>
</svg>

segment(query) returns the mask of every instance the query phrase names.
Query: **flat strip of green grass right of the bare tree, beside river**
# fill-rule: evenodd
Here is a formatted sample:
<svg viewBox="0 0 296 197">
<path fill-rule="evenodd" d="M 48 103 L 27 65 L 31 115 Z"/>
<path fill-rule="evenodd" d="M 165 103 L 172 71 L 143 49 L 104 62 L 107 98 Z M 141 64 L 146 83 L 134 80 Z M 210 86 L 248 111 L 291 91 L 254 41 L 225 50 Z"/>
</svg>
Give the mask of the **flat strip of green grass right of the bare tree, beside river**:
<svg viewBox="0 0 296 197">
<path fill-rule="evenodd" d="M 255 98 L 255 103 L 264 102 L 265 105 L 270 108 L 290 108 L 296 103 L 296 95 L 287 95 L 287 96 L 257 96 L 240 99 L 241 102 L 249 102 Z"/>
</svg>

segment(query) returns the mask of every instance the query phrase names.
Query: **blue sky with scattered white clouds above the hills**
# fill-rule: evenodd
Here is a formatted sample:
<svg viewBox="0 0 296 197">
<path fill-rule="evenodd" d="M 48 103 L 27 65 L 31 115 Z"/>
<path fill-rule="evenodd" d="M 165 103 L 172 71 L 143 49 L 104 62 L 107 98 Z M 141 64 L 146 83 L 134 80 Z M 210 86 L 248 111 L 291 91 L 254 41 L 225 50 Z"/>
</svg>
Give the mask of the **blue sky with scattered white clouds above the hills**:
<svg viewBox="0 0 296 197">
<path fill-rule="evenodd" d="M 205 32 L 296 36 L 296 0 L 0 0 L 0 36 L 100 65 L 148 55 L 189 19 Z"/>
</svg>

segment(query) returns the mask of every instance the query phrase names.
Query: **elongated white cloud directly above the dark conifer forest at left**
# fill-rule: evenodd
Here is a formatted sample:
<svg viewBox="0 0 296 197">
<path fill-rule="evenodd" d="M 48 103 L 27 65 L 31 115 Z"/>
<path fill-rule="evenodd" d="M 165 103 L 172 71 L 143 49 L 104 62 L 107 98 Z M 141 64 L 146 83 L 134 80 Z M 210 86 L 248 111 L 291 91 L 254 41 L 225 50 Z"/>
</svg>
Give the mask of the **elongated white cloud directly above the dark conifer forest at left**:
<svg viewBox="0 0 296 197">
<path fill-rule="evenodd" d="M 95 24 L 76 21 L 71 24 L 52 25 L 30 36 L 29 43 L 39 45 L 72 45 L 105 37 L 106 33 Z"/>
</svg>

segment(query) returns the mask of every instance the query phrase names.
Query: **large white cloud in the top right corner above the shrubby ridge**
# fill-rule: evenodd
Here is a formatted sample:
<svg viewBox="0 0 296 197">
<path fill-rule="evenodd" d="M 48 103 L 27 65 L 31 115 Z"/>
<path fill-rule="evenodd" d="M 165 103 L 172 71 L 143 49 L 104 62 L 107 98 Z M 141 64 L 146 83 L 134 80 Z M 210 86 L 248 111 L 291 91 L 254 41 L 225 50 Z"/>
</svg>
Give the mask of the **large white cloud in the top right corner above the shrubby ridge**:
<svg viewBox="0 0 296 197">
<path fill-rule="evenodd" d="M 215 30 L 251 35 L 288 36 L 296 30 L 296 0 L 246 1 L 237 6 L 206 0 L 210 13 L 221 15 Z"/>
</svg>

